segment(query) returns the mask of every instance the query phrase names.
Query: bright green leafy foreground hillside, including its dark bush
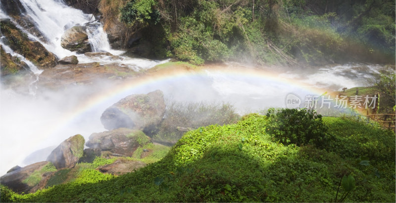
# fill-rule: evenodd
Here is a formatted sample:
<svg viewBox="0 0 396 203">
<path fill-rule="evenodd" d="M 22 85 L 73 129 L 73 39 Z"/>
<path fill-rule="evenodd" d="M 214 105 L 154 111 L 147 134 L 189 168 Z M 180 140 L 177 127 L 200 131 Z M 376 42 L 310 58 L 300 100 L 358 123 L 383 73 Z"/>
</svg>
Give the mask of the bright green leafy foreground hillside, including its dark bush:
<svg viewBox="0 0 396 203">
<path fill-rule="evenodd" d="M 125 175 L 94 167 L 34 194 L 1 186 L 1 202 L 395 201 L 395 133 L 304 110 L 198 128 L 160 161 Z"/>
</svg>

